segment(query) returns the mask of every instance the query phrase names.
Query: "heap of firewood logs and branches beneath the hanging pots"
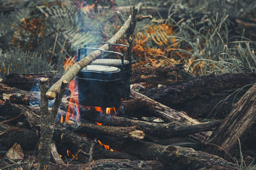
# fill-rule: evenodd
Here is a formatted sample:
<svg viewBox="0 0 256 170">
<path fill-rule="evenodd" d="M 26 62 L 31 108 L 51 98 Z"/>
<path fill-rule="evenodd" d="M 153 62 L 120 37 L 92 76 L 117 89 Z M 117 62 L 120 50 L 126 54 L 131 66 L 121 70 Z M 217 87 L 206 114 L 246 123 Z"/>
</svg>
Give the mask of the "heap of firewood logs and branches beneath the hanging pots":
<svg viewBox="0 0 256 170">
<path fill-rule="evenodd" d="M 26 166 L 36 166 L 37 152 L 33 153 L 33 150 L 38 146 L 40 138 L 40 108 L 31 106 L 31 103 L 40 101 L 40 94 L 38 91 L 27 91 L 26 88 L 31 83 L 28 81 L 29 79 L 36 80 L 36 78 L 46 76 L 20 75 L 20 78 L 24 80 L 23 85 L 20 85 L 19 78 L 15 83 L 11 77 L 8 76 L 0 83 L 1 149 L 7 151 L 15 143 L 18 143 L 24 152 L 23 160 L 27 162 Z M 163 94 L 166 92 L 165 96 L 170 96 L 171 99 L 165 98 L 164 104 L 173 104 L 173 101 L 178 100 L 177 97 L 180 97 L 180 101 L 188 97 L 187 101 L 189 101 L 192 100 L 191 98 L 196 99 L 195 96 L 221 93 L 223 90 L 232 91 L 253 83 L 255 79 L 255 76 L 245 74 L 192 78 L 177 81 L 166 87 L 144 89 L 144 94 L 152 94 L 155 91 L 155 95 L 150 96 L 152 99 L 132 90 L 130 99 L 122 101 L 122 107 L 118 109 L 117 115 L 106 115 L 106 113 L 89 110 L 88 107 L 80 105 L 81 122 L 79 124 L 74 124 L 72 121 L 63 124 L 57 122 L 54 127 L 51 145 L 52 159 L 49 168 L 236 169 L 231 162 L 211 155 L 214 153 L 223 156 L 223 153 L 207 143 L 216 141 L 216 145 L 228 148 L 230 152 L 231 149 L 237 147 L 237 138 L 241 141 L 248 139 L 247 133 L 255 127 L 255 115 L 252 115 L 254 100 L 250 100 L 251 102 L 245 105 L 244 103 L 248 101 L 248 95 L 252 99 L 255 94 L 254 91 L 252 92 L 255 90 L 254 86 L 236 104 L 228 118 L 211 122 L 198 122 L 184 111 L 173 110 L 153 99 L 161 99 L 159 96 L 164 96 Z M 56 79 L 52 78 L 52 81 L 54 80 Z M 11 85 L 10 81 L 12 81 L 12 87 L 6 85 Z M 197 84 L 195 85 L 195 83 Z M 211 84 L 216 86 L 211 86 Z M 200 87 L 199 90 L 196 90 L 197 86 Z M 217 86 L 220 88 L 218 89 Z M 163 90 L 164 88 L 173 90 Z M 156 89 L 159 90 L 159 93 L 156 92 Z M 183 91 L 179 89 L 183 89 Z M 175 94 L 177 92 L 179 95 Z M 66 92 L 58 114 L 65 115 L 68 104 L 72 104 L 68 103 L 69 98 L 70 93 Z M 184 101 L 182 102 L 184 103 Z M 244 111 L 241 112 L 241 109 Z M 157 122 L 156 120 L 161 121 Z M 250 123 L 240 124 L 240 121 Z M 102 125 L 95 124 L 95 122 Z M 227 136 L 225 133 L 228 132 L 227 126 L 234 126 L 234 129 L 241 129 L 241 131 L 234 136 L 232 133 L 225 138 Z M 227 143 L 227 139 L 234 142 Z M 195 146 L 189 146 L 191 140 L 194 141 L 194 145 L 196 141 Z M 100 146 L 99 143 L 104 145 Z M 69 154 L 67 150 L 70 152 Z M 73 156 L 70 157 L 72 154 Z"/>
</svg>

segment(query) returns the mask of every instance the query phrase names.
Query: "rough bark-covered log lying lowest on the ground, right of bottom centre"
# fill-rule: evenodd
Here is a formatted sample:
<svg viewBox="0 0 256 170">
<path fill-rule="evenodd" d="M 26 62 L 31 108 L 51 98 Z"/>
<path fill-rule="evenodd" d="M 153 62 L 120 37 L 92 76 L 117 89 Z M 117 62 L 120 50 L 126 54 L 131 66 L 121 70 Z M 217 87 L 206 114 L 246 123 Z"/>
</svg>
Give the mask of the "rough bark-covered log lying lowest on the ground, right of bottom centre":
<svg viewBox="0 0 256 170">
<path fill-rule="evenodd" d="M 143 159 L 161 160 L 172 166 L 172 169 L 237 169 L 234 164 L 221 157 L 181 146 L 127 140 L 123 143 L 122 150 Z"/>
</svg>

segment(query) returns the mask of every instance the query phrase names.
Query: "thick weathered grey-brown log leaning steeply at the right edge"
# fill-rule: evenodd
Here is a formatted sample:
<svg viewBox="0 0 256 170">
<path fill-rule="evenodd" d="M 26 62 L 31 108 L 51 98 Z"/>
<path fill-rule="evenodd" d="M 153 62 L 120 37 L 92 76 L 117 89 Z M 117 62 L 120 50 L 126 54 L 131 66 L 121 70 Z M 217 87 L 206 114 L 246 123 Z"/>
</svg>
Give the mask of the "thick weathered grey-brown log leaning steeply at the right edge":
<svg viewBox="0 0 256 170">
<path fill-rule="evenodd" d="M 248 139 L 247 134 L 256 122 L 255 104 L 256 85 L 253 85 L 238 101 L 220 127 L 207 140 L 209 152 L 225 155 L 220 151 L 230 152 L 236 147 L 237 139 L 241 139 L 241 141 Z M 212 147 L 211 144 L 220 146 L 221 150 L 220 148 Z"/>
</svg>

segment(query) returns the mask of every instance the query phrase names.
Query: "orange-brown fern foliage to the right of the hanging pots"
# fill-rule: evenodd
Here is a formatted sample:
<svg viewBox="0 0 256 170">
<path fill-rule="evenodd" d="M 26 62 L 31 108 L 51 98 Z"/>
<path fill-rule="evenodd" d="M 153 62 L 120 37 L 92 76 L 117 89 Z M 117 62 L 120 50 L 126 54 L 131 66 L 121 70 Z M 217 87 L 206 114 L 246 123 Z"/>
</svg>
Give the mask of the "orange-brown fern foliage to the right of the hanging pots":
<svg viewBox="0 0 256 170">
<path fill-rule="evenodd" d="M 139 61 L 150 62 L 154 67 L 179 64 L 182 62 L 180 53 L 173 53 L 170 50 L 177 48 L 180 42 L 175 38 L 169 38 L 173 35 L 170 24 L 147 25 L 143 31 L 136 34 L 132 52 Z"/>
</svg>

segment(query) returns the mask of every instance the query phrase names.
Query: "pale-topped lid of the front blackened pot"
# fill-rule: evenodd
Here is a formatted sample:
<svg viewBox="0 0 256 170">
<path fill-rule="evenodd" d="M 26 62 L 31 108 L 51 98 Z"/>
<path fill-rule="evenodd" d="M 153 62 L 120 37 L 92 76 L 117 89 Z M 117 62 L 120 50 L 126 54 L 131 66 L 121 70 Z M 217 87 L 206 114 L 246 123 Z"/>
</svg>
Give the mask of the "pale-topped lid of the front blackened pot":
<svg viewBox="0 0 256 170">
<path fill-rule="evenodd" d="M 89 65 L 84 67 L 77 78 L 86 80 L 115 81 L 120 80 L 120 69 L 113 66 Z"/>
</svg>

